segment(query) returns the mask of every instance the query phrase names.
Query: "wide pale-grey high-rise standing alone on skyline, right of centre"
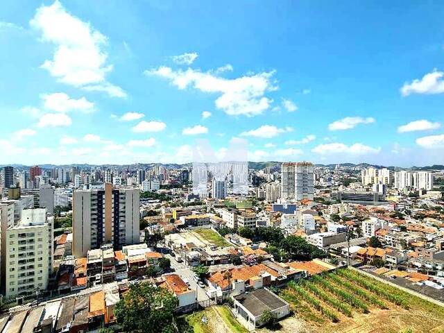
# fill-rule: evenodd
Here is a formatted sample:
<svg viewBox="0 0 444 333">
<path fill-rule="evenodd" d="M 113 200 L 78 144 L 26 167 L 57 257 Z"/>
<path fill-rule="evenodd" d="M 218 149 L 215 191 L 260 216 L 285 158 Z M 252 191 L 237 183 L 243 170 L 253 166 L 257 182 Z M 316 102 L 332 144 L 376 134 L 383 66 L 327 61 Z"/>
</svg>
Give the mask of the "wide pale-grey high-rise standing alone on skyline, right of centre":
<svg viewBox="0 0 444 333">
<path fill-rule="evenodd" d="M 311 162 L 284 162 L 281 166 L 281 198 L 313 200 L 314 166 Z"/>
</svg>

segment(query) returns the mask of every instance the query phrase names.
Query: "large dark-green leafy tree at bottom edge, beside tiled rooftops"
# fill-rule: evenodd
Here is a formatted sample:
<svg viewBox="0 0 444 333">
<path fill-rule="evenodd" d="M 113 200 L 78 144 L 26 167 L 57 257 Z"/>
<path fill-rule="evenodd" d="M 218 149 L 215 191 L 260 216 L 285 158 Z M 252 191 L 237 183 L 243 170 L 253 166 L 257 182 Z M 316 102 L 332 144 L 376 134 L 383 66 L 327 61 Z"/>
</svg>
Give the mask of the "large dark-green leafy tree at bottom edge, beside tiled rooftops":
<svg viewBox="0 0 444 333">
<path fill-rule="evenodd" d="M 114 314 L 123 332 L 167 333 L 173 328 L 178 298 L 148 283 L 133 284 L 117 303 Z"/>
</svg>

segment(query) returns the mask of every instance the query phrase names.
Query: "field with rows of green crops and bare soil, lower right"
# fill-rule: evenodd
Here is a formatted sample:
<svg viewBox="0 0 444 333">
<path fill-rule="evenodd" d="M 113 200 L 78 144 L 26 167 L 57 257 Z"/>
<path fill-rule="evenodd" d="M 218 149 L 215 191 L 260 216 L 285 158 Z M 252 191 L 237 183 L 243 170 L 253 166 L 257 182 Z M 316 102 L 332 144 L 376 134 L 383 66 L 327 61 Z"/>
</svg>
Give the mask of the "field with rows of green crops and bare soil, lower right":
<svg viewBox="0 0 444 333">
<path fill-rule="evenodd" d="M 295 313 L 280 332 L 444 332 L 443 307 L 348 269 L 290 283 L 280 296 Z"/>
</svg>

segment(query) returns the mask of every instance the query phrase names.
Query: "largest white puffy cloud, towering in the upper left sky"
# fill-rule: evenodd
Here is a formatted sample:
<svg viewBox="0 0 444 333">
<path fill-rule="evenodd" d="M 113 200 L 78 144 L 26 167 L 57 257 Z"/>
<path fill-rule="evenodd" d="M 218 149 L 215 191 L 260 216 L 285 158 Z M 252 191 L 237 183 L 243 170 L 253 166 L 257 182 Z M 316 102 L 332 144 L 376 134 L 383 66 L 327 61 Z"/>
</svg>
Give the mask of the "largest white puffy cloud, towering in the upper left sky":
<svg viewBox="0 0 444 333">
<path fill-rule="evenodd" d="M 62 83 L 89 90 L 108 92 L 110 96 L 126 96 L 119 87 L 108 83 L 105 76 L 112 71 L 106 60 L 108 53 L 103 50 L 107 38 L 70 15 L 59 1 L 51 6 L 40 6 L 29 22 L 32 28 L 42 33 L 44 42 L 56 46 L 52 60 L 41 66 Z"/>
</svg>

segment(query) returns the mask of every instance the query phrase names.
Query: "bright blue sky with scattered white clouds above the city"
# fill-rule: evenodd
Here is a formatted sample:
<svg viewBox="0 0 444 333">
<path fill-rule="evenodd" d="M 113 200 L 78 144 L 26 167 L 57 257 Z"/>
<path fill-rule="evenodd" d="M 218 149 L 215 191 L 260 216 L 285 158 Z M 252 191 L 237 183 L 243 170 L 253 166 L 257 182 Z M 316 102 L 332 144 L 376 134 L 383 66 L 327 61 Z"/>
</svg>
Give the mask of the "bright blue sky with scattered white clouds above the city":
<svg viewBox="0 0 444 333">
<path fill-rule="evenodd" d="M 3 0 L 0 164 L 444 164 L 441 1 Z"/>
</svg>

